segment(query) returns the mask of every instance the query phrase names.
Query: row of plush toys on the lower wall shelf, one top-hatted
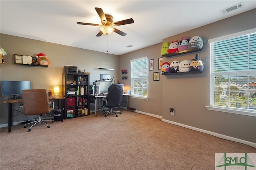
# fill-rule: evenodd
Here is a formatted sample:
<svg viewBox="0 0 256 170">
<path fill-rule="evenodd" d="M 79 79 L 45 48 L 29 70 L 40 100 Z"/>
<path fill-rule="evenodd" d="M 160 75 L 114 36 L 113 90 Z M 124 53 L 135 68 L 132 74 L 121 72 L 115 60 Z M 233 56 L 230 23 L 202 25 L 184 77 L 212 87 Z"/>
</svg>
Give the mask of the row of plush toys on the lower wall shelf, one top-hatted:
<svg viewBox="0 0 256 170">
<path fill-rule="evenodd" d="M 200 71 L 204 70 L 204 63 L 199 59 L 199 54 L 196 54 L 196 57 L 190 60 L 183 61 L 172 61 L 172 63 L 164 62 L 161 65 L 162 73 L 182 73 L 190 71 Z"/>
</svg>

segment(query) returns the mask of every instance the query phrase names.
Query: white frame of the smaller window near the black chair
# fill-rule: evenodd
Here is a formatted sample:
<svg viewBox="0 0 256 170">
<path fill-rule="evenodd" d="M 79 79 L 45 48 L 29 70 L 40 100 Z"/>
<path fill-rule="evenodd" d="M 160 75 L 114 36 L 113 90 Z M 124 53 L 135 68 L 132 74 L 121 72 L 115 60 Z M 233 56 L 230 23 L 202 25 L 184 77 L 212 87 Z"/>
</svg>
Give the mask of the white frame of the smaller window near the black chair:
<svg viewBox="0 0 256 170">
<path fill-rule="evenodd" d="M 140 60 L 146 60 L 145 67 L 143 68 L 143 72 L 146 73 L 146 75 L 141 77 L 141 78 L 134 78 L 133 77 L 134 75 L 133 75 L 133 72 L 132 72 L 134 70 L 134 68 L 132 68 L 133 67 L 132 62 L 140 61 Z M 137 58 L 137 59 L 130 60 L 130 67 L 131 67 L 131 81 L 130 81 L 131 94 L 130 94 L 130 97 L 137 98 L 137 99 L 146 99 L 146 100 L 148 100 L 148 57 L 146 56 L 146 57 L 140 57 L 140 58 Z M 138 79 L 146 79 L 146 81 L 147 81 L 146 82 L 147 96 L 134 94 L 134 89 L 133 89 L 134 88 L 134 85 L 133 85 L 134 79 L 137 79 L 137 80 Z"/>
</svg>

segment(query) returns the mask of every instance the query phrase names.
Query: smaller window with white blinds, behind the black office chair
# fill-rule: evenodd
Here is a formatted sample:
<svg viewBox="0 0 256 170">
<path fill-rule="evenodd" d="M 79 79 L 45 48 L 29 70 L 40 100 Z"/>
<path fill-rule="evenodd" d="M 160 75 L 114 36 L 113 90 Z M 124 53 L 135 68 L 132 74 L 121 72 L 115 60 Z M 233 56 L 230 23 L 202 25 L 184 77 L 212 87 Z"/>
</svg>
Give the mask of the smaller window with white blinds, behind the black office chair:
<svg viewBox="0 0 256 170">
<path fill-rule="evenodd" d="M 148 97 L 148 57 L 130 60 L 131 95 Z"/>
</svg>

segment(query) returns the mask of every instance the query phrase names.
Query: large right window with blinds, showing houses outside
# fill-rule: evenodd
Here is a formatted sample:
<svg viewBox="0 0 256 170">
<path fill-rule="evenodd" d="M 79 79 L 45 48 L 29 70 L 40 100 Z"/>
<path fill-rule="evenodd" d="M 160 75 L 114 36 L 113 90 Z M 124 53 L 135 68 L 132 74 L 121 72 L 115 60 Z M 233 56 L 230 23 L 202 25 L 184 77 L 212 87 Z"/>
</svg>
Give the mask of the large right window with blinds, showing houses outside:
<svg viewBox="0 0 256 170">
<path fill-rule="evenodd" d="M 256 116 L 256 33 L 211 42 L 210 48 L 210 107 Z"/>
</svg>

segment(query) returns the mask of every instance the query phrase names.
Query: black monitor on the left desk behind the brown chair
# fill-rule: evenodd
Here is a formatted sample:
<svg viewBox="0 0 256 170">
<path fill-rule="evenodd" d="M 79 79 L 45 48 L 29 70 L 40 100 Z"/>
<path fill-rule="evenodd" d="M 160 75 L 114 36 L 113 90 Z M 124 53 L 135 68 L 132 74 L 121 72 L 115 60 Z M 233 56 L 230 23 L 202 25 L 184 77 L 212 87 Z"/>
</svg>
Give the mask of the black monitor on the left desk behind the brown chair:
<svg viewBox="0 0 256 170">
<path fill-rule="evenodd" d="M 1 81 L 1 95 L 10 96 L 12 99 L 20 98 L 22 90 L 31 89 L 30 81 Z"/>
</svg>

